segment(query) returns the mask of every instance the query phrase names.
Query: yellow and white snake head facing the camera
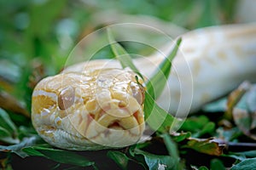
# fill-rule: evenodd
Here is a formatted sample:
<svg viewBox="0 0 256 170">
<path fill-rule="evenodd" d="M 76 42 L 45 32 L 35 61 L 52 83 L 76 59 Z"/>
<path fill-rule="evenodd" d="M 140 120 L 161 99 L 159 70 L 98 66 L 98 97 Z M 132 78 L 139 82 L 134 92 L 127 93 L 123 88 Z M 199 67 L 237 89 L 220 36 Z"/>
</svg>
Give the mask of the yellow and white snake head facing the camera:
<svg viewBox="0 0 256 170">
<path fill-rule="evenodd" d="M 49 144 L 69 150 L 135 144 L 145 127 L 144 88 L 135 77 L 120 69 L 46 77 L 32 94 L 33 126 Z"/>
</svg>

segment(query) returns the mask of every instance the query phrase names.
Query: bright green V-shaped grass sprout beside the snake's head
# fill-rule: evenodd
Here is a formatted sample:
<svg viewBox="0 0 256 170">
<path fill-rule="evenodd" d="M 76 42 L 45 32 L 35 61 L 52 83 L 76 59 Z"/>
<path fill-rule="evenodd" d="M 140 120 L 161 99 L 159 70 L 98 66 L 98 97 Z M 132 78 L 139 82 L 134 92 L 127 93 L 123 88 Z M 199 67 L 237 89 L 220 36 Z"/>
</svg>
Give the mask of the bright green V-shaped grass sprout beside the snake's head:
<svg viewBox="0 0 256 170">
<path fill-rule="evenodd" d="M 136 72 L 138 76 L 143 78 L 141 73 L 137 70 L 137 67 L 133 64 L 131 56 L 125 51 L 125 48 L 120 46 L 118 42 L 115 42 L 115 40 L 113 39 L 113 34 L 109 29 L 108 41 L 111 44 L 113 54 L 117 59 L 119 59 L 122 67 L 130 67 L 132 71 Z M 177 54 L 177 48 L 180 43 L 181 38 L 177 40 L 177 45 L 173 48 L 171 54 L 160 64 L 160 71 L 156 71 L 154 77 L 152 77 L 147 83 L 151 84 L 153 82 L 153 84 L 151 84 L 151 87 L 147 87 L 148 91 L 145 92 L 145 120 L 146 122 L 148 122 L 149 127 L 156 131 L 159 131 L 160 133 L 169 132 L 173 124 L 179 122 L 174 116 L 168 114 L 165 110 L 161 109 L 160 106 L 155 103 L 154 97 L 152 96 L 154 96 L 154 88 L 163 88 L 165 86 L 166 78 L 169 77 L 169 73 L 171 70 L 172 59 Z M 163 75 L 162 72 L 164 72 L 165 74 Z M 165 81 L 162 81 L 163 79 L 165 79 Z M 137 81 L 137 83 L 139 82 Z M 160 86 L 158 84 L 160 84 Z"/>
</svg>

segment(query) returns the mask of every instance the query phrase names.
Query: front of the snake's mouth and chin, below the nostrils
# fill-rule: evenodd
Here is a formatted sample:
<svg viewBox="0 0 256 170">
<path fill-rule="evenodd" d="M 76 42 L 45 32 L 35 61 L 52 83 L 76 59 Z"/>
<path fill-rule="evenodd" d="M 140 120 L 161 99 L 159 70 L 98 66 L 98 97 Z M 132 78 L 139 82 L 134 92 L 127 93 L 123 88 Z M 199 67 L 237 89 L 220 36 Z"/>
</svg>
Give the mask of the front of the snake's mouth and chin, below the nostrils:
<svg viewBox="0 0 256 170">
<path fill-rule="evenodd" d="M 90 122 L 84 136 L 96 144 L 111 147 L 135 144 L 144 130 L 144 123 L 139 122 L 136 115 L 137 112 L 127 117 L 102 115 L 97 121 Z"/>
</svg>

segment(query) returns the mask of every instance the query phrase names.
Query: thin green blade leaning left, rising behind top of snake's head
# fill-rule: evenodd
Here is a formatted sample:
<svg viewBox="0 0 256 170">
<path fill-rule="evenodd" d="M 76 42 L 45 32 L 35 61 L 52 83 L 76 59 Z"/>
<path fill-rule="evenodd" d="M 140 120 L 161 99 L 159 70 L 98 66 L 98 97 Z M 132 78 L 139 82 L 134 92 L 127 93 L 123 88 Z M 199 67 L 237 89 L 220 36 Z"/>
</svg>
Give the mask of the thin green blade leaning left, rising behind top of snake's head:
<svg viewBox="0 0 256 170">
<path fill-rule="evenodd" d="M 139 77 L 143 79 L 143 75 L 138 71 L 137 67 L 132 63 L 131 56 L 125 51 L 118 42 L 116 42 L 113 38 L 113 34 L 108 29 L 108 42 L 110 43 L 110 47 L 112 48 L 113 54 L 119 60 L 123 68 L 130 67 L 132 71 L 137 73 Z"/>
</svg>

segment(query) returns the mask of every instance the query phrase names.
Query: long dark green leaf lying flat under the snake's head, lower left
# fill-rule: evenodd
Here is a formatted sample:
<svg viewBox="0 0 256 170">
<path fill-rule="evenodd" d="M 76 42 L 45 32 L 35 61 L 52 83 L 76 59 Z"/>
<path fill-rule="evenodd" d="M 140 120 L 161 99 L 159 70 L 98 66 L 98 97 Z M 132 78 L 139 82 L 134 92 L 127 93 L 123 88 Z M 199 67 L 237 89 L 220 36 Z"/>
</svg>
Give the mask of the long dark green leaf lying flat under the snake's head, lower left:
<svg viewBox="0 0 256 170">
<path fill-rule="evenodd" d="M 80 156 L 72 151 L 67 150 L 57 150 L 42 146 L 31 146 L 24 148 L 23 151 L 31 156 L 43 156 L 52 161 L 79 167 L 89 167 L 95 164 L 94 161 L 89 161 L 84 156 Z"/>
</svg>

